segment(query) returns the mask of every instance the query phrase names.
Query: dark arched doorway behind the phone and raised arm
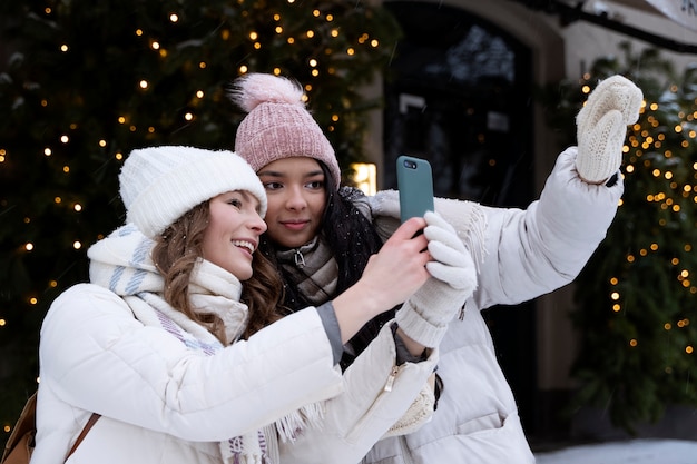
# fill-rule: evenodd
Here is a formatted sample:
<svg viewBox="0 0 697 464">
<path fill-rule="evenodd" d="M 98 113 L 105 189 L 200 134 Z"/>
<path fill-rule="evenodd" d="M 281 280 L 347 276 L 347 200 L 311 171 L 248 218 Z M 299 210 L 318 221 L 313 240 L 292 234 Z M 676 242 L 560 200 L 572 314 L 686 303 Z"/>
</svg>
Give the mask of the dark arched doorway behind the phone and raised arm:
<svg viewBox="0 0 697 464">
<path fill-rule="evenodd" d="M 386 1 L 404 30 L 384 83 L 385 188 L 400 155 L 428 159 L 436 196 L 527 207 L 534 196 L 531 52 L 440 3 Z M 534 304 L 484 312 L 528 432 L 537 391 Z"/>
</svg>

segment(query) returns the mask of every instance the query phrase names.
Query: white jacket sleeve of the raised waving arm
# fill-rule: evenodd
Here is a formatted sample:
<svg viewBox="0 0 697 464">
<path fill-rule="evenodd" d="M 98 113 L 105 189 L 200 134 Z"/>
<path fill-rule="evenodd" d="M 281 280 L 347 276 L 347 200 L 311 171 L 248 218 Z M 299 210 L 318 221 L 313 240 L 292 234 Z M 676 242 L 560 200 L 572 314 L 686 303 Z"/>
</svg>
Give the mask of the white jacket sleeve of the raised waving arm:
<svg viewBox="0 0 697 464">
<path fill-rule="evenodd" d="M 611 187 L 582 181 L 576 155 L 571 147 L 558 157 L 540 199 L 526 210 L 484 207 L 477 307 L 522 303 L 569 284 L 605 238 L 622 180 Z"/>
</svg>

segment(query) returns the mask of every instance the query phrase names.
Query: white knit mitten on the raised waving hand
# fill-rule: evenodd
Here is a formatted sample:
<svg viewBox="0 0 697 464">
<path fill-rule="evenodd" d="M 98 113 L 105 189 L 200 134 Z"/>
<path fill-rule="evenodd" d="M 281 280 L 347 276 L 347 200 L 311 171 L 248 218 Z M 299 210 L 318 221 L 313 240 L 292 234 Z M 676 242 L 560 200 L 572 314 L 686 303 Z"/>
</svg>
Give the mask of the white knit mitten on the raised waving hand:
<svg viewBox="0 0 697 464">
<path fill-rule="evenodd" d="M 576 117 L 576 170 L 588 184 L 602 184 L 619 169 L 627 126 L 639 119 L 644 93 L 627 78 L 612 76 L 590 93 Z"/>
</svg>

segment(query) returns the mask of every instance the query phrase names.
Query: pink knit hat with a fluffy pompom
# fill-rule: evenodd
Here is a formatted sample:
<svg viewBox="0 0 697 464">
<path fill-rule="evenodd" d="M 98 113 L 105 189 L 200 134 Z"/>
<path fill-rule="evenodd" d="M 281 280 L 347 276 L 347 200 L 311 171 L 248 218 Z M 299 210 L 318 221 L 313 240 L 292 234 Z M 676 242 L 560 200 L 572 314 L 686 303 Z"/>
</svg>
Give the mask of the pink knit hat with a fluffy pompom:
<svg viewBox="0 0 697 464">
<path fill-rule="evenodd" d="M 338 188 L 341 169 L 336 155 L 305 109 L 300 83 L 252 72 L 235 80 L 229 96 L 248 112 L 237 128 L 235 152 L 255 171 L 277 159 L 310 157 L 327 166 Z"/>
</svg>

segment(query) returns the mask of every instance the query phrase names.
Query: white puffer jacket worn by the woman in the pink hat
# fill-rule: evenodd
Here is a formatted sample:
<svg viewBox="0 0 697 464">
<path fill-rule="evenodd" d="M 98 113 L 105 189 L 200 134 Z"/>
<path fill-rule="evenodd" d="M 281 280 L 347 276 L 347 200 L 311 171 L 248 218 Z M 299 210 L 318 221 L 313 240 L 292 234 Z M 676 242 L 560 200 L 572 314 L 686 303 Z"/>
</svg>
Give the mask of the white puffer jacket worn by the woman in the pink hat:
<svg viewBox="0 0 697 464">
<path fill-rule="evenodd" d="M 480 312 L 570 283 L 605 238 L 624 191 L 621 179 L 612 187 L 583 182 L 573 167 L 576 154 L 572 147 L 559 156 L 540 199 L 527 210 L 436 200 L 436 211 L 482 258 L 479 287 L 463 320 L 450 324 L 441 344 L 438 373 L 444 391 L 433 419 L 408 436 L 381 441 L 363 463 L 534 462 Z M 395 205 L 396 192 L 382 194 L 372 200 L 373 215 L 397 217 Z M 382 218 L 383 230 L 389 221 Z"/>
</svg>

